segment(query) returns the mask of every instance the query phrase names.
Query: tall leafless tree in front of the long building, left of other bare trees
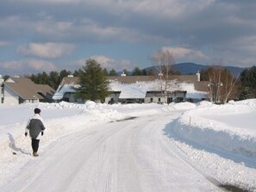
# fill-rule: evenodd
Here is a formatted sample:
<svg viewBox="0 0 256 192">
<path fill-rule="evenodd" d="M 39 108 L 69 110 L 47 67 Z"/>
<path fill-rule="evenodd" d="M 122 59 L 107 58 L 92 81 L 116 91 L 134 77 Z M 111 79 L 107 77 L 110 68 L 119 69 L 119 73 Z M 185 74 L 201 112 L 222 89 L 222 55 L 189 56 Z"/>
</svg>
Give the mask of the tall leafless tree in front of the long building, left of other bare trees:
<svg viewBox="0 0 256 192">
<path fill-rule="evenodd" d="M 171 82 L 171 67 L 175 64 L 174 57 L 170 50 L 162 49 L 153 53 L 152 63 L 155 68 L 155 75 L 159 77 L 160 90 L 164 102 L 166 102 L 167 90 L 173 85 Z"/>
</svg>

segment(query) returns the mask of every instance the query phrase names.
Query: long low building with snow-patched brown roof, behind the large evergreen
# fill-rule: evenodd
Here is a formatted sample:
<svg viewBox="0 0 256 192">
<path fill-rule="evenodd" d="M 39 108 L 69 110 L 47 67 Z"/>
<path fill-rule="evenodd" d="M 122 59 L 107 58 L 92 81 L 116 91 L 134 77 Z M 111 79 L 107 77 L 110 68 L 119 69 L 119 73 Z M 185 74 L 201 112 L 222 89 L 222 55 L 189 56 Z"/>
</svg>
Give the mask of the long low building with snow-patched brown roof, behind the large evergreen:
<svg viewBox="0 0 256 192">
<path fill-rule="evenodd" d="M 106 103 L 115 102 L 198 102 L 207 98 L 203 84 L 198 82 L 197 75 L 171 76 L 166 91 L 163 92 L 163 81 L 156 76 L 114 76 L 109 79 L 109 96 Z M 64 77 L 56 90 L 55 102 L 83 102 L 74 97 L 78 77 Z M 202 88 L 195 90 L 195 88 Z M 207 88 L 207 86 L 205 86 Z M 190 91 L 186 90 L 189 89 Z M 189 95 L 189 97 L 187 97 Z"/>
</svg>

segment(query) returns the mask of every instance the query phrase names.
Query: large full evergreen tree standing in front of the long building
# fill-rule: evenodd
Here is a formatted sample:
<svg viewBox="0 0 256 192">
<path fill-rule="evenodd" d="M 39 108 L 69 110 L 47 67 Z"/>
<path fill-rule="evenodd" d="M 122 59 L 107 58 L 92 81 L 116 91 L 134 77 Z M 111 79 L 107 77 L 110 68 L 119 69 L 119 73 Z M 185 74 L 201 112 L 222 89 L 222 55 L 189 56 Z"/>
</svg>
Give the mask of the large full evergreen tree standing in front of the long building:
<svg viewBox="0 0 256 192">
<path fill-rule="evenodd" d="M 82 100 L 98 101 L 109 95 L 109 81 L 95 59 L 86 60 L 79 73 L 76 96 Z"/>
</svg>

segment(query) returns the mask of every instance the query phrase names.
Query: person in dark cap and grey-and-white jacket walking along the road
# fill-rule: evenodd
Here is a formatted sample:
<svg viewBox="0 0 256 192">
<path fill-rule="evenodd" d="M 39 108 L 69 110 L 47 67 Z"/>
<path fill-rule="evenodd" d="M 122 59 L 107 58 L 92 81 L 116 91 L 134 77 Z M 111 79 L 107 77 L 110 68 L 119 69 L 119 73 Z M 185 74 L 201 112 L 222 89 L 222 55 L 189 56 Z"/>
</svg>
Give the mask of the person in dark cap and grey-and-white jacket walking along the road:
<svg viewBox="0 0 256 192">
<path fill-rule="evenodd" d="M 28 120 L 28 124 L 25 129 L 25 136 L 29 136 L 31 138 L 31 146 L 33 150 L 33 156 L 38 156 L 38 148 L 41 136 L 44 134 L 44 130 L 46 127 L 44 126 L 43 119 L 41 118 L 41 109 L 34 108 L 34 116 Z"/>
</svg>

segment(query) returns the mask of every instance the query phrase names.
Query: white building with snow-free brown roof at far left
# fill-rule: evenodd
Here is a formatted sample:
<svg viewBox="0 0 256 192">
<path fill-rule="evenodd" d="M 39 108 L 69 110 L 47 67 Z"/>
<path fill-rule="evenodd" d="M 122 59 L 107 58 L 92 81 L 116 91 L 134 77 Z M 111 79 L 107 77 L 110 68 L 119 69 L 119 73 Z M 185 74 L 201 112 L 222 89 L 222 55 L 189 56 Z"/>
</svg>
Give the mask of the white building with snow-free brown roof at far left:
<svg viewBox="0 0 256 192">
<path fill-rule="evenodd" d="M 3 103 L 52 102 L 54 92 L 47 84 L 34 84 L 26 77 L 9 77 L 3 83 Z"/>
</svg>

